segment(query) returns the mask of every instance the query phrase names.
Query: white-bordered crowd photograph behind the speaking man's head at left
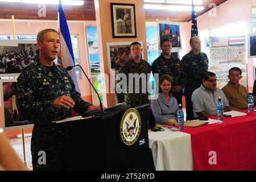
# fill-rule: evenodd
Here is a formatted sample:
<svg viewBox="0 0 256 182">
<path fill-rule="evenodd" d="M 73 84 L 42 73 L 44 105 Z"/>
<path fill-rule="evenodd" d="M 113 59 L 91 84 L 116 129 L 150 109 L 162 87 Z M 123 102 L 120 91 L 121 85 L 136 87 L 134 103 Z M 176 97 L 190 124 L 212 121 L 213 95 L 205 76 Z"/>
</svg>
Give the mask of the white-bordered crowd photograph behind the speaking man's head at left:
<svg viewBox="0 0 256 182">
<path fill-rule="evenodd" d="M 36 40 L 0 40 L 0 62 L 1 62 L 0 68 L 5 71 L 5 72 L 2 72 L 2 71 L 0 72 L 0 78 L 19 76 L 19 74 L 22 72 L 25 66 L 24 67 L 22 66 L 22 58 L 20 58 L 20 60 L 18 61 L 18 59 L 14 57 L 15 55 L 13 52 L 15 51 L 15 53 L 19 53 L 20 51 L 24 50 L 24 51 L 27 51 L 28 53 L 27 56 L 29 57 L 30 48 L 32 48 L 32 52 L 34 53 L 33 60 L 35 60 L 35 53 L 38 50 L 38 48 L 36 47 Z M 13 53 L 13 55 L 10 55 L 12 57 L 12 58 L 10 57 L 10 59 L 8 56 L 6 56 L 9 61 L 6 61 L 6 58 L 5 58 L 5 61 L 3 61 L 2 54 L 5 51 L 9 52 L 8 56 L 11 53 Z"/>
</svg>

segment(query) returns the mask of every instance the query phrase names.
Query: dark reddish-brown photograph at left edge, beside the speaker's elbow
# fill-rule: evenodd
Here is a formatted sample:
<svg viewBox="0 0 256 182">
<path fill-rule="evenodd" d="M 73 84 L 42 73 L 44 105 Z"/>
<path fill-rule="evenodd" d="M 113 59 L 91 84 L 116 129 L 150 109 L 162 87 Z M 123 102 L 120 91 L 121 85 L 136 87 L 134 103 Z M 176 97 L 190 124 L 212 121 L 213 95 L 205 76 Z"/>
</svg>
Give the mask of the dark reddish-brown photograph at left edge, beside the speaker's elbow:
<svg viewBox="0 0 256 182">
<path fill-rule="evenodd" d="M 16 106 L 16 79 L 0 80 L 1 108 L 4 129 L 31 127 L 31 123 L 19 115 Z M 29 126 L 28 126 L 29 125 Z"/>
</svg>

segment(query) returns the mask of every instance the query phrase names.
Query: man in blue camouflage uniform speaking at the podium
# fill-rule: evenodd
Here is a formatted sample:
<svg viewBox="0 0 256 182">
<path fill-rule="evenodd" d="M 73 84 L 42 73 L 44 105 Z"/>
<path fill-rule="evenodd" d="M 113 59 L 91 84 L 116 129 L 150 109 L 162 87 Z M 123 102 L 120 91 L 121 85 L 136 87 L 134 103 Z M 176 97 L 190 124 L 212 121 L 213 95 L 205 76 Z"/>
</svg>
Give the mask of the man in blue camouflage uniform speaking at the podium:
<svg viewBox="0 0 256 182">
<path fill-rule="evenodd" d="M 71 109 L 82 113 L 100 106 L 83 101 L 67 71 L 53 63 L 60 48 L 58 32 L 42 30 L 36 39 L 40 56 L 18 77 L 16 105 L 20 117 L 34 123 L 33 169 L 63 170 L 67 167 L 67 124 L 57 125 L 52 121 L 72 117 Z M 45 160 L 40 158 L 43 155 Z"/>
</svg>

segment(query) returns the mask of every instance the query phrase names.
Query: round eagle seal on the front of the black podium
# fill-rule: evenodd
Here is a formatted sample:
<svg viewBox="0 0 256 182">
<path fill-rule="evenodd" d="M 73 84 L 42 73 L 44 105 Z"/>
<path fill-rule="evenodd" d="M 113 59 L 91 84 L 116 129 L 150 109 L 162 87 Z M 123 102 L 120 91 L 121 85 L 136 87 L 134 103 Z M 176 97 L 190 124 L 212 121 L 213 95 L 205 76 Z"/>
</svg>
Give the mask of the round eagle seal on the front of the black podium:
<svg viewBox="0 0 256 182">
<path fill-rule="evenodd" d="M 141 116 L 136 109 L 130 108 L 122 115 L 120 133 L 123 143 L 127 146 L 137 141 L 141 133 Z"/>
</svg>

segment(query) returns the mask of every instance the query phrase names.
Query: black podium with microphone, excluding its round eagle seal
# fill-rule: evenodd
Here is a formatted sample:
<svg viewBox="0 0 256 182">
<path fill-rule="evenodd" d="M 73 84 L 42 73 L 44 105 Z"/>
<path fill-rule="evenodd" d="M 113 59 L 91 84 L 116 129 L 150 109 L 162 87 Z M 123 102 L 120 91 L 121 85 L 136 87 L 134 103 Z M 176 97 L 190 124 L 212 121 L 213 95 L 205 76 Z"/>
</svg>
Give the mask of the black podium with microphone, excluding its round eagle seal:
<svg viewBox="0 0 256 182">
<path fill-rule="evenodd" d="M 68 122 L 68 170 L 155 170 L 148 146 L 148 105 L 134 107 L 141 117 L 136 142 L 128 146 L 121 138 L 122 115 L 129 108 Z"/>
</svg>

